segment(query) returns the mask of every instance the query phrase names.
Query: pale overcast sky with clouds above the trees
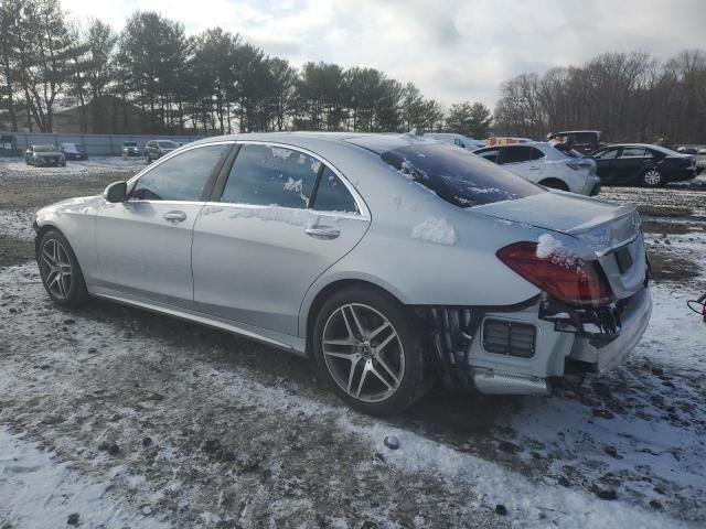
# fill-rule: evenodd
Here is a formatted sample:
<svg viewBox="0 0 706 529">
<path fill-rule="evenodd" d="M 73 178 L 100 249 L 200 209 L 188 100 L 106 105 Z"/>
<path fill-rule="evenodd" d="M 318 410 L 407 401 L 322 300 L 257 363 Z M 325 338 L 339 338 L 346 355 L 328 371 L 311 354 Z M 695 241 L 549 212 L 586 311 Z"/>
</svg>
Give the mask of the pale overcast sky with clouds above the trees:
<svg viewBox="0 0 706 529">
<path fill-rule="evenodd" d="M 706 0 L 62 0 L 121 29 L 154 10 L 188 33 L 222 26 L 265 53 L 370 66 L 448 105 L 493 106 L 500 83 L 606 51 L 706 48 Z"/>
</svg>

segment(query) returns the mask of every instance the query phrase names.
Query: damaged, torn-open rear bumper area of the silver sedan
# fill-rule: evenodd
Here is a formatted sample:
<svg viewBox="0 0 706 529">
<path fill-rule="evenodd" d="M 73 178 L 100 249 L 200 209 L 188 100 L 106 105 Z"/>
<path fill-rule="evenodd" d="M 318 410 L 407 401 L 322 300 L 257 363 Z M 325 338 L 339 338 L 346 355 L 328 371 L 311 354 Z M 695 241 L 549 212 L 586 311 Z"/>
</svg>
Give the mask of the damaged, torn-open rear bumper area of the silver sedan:
<svg viewBox="0 0 706 529">
<path fill-rule="evenodd" d="M 507 307 L 417 307 L 447 386 L 484 393 L 547 395 L 554 378 L 601 373 L 638 345 L 650 289 L 601 309 L 542 296 Z"/>
</svg>

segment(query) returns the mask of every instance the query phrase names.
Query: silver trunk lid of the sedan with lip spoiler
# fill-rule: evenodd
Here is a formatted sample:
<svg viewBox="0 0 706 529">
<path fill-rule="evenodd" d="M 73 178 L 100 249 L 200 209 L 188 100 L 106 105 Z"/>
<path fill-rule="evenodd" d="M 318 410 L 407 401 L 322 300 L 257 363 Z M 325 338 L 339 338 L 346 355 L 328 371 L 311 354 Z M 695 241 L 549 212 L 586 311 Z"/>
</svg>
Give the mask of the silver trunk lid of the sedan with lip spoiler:
<svg viewBox="0 0 706 529">
<path fill-rule="evenodd" d="M 576 237 L 592 250 L 613 294 L 623 299 L 642 289 L 646 258 L 633 205 L 548 192 L 477 206 L 473 212 Z"/>
</svg>

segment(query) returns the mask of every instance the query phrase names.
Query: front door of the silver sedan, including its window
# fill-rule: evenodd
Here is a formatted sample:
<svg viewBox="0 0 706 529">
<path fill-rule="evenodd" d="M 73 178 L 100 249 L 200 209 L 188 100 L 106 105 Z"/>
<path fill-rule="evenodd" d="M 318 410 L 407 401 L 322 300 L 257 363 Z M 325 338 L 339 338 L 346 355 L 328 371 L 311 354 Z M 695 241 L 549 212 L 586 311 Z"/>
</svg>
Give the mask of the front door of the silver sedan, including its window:
<svg viewBox="0 0 706 529">
<path fill-rule="evenodd" d="M 99 287 L 193 306 L 192 231 L 217 169 L 233 143 L 196 145 L 150 165 L 124 203 L 96 219 Z"/>
</svg>

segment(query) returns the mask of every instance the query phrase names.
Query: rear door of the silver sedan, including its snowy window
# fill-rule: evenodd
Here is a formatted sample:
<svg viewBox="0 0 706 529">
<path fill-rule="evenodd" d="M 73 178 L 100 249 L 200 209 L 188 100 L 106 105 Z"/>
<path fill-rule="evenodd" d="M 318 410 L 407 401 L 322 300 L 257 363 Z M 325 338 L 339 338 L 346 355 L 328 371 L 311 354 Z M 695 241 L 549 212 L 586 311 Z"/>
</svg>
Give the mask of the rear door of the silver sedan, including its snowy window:
<svg viewBox="0 0 706 529">
<path fill-rule="evenodd" d="M 314 280 L 361 240 L 370 215 L 331 165 L 300 149 L 240 143 L 194 227 L 202 312 L 298 335 Z"/>
</svg>

